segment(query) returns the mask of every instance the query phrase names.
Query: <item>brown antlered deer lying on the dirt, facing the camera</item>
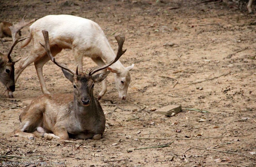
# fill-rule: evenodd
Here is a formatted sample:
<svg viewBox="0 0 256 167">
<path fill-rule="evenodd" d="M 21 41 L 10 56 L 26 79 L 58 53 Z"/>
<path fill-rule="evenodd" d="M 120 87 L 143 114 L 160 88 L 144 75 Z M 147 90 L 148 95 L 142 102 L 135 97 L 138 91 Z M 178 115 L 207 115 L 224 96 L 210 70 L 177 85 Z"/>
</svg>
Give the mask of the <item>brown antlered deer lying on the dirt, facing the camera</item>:
<svg viewBox="0 0 256 167">
<path fill-rule="evenodd" d="M 46 50 L 53 63 L 61 67 L 65 77 L 73 83 L 74 94 L 44 94 L 33 100 L 21 113 L 21 125 L 15 130 L 15 136 L 34 139 L 35 136 L 57 139 L 94 139 L 99 140 L 105 130 L 105 116 L 97 98 L 93 95 L 94 83 L 103 81 L 110 71 L 94 74 L 115 63 L 126 50 L 122 50 L 124 37 L 116 36 L 118 52 L 110 63 L 93 69 L 89 74 L 78 74 L 59 64 L 53 58 L 48 31 L 43 30 Z M 52 134 L 53 133 L 53 134 Z"/>
</svg>

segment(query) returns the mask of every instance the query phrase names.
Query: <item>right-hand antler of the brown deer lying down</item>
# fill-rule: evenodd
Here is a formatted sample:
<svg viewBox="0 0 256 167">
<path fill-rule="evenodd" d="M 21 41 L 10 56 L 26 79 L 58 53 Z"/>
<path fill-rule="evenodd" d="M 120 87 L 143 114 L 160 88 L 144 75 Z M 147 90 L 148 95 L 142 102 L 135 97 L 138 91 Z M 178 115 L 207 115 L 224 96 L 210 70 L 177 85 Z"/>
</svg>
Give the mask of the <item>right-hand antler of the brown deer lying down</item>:
<svg viewBox="0 0 256 167">
<path fill-rule="evenodd" d="M 115 56 L 115 58 L 110 63 L 108 63 L 102 67 L 92 69 L 88 75 L 91 76 L 92 74 L 111 66 L 112 64 L 117 62 L 117 60 L 125 53 L 126 49 L 125 50 L 122 49 L 123 43 L 125 42 L 125 37 L 124 36 L 115 36 L 115 39 L 117 40 L 117 43 L 118 43 L 118 51 L 117 51 L 117 55 Z"/>
</svg>

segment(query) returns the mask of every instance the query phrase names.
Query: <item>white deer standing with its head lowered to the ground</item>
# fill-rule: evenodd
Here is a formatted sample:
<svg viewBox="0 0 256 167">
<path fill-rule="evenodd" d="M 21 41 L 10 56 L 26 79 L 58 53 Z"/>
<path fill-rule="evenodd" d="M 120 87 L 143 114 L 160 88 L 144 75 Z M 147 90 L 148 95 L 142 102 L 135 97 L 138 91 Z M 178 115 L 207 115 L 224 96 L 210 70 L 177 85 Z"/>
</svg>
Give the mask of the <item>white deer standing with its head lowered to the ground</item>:
<svg viewBox="0 0 256 167">
<path fill-rule="evenodd" d="M 41 31 L 47 29 L 50 35 L 50 48 L 53 57 L 62 49 L 72 49 L 75 57 L 75 65 L 78 64 L 78 72 L 83 72 L 83 56 L 88 56 L 94 60 L 98 66 L 103 66 L 105 60 L 107 63 L 114 59 L 115 53 L 111 48 L 104 32 L 99 25 L 91 20 L 71 16 L 71 15 L 49 15 L 38 19 L 30 26 L 30 38 L 22 43 L 25 47 L 31 39 L 33 40 L 33 48 L 30 54 L 21 59 L 18 69 L 15 71 L 15 82 L 21 72 L 31 63 L 34 62 L 36 72 L 40 81 L 41 89 L 44 94 L 50 94 L 47 90 L 43 78 L 42 68 L 49 60 L 45 50 L 39 44 L 43 40 Z M 134 64 L 124 67 L 118 60 L 108 70 L 114 73 L 115 84 L 121 99 L 126 99 L 127 89 L 131 80 L 129 71 L 132 70 Z M 104 72 L 107 69 L 103 70 Z M 102 90 L 98 98 L 100 99 L 107 91 L 106 79 L 102 82 Z"/>
</svg>

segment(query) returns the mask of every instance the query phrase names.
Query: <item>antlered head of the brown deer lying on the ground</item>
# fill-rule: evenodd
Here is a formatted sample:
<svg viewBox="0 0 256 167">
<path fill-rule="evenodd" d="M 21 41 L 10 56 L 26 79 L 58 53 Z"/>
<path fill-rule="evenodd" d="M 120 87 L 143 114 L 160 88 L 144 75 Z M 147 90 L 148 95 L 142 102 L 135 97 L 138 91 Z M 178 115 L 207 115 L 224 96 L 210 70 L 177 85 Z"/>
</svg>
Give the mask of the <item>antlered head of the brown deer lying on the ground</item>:
<svg viewBox="0 0 256 167">
<path fill-rule="evenodd" d="M 67 67 L 61 65 L 55 60 L 55 58 L 52 56 L 50 51 L 48 31 L 43 30 L 42 33 L 44 36 L 45 44 L 42 44 L 41 42 L 39 43 L 44 47 L 47 55 L 50 57 L 52 62 L 55 63 L 57 66 L 61 67 L 61 70 L 64 73 L 65 77 L 73 83 L 75 99 L 79 101 L 83 106 L 90 105 L 91 101 L 94 100 L 94 96 L 93 96 L 94 83 L 103 81 L 107 77 L 107 75 L 110 73 L 110 71 L 95 74 L 95 75 L 93 74 L 112 65 L 125 53 L 126 49 L 122 50 L 125 37 L 121 37 L 121 36 L 115 37 L 115 39 L 118 42 L 118 52 L 114 60 L 112 60 L 110 63 L 102 67 L 92 69 L 89 72 L 89 74 L 86 74 L 86 73 L 78 74 L 78 65 L 76 66 L 76 72 L 74 72 L 73 70 L 68 69 Z"/>
</svg>

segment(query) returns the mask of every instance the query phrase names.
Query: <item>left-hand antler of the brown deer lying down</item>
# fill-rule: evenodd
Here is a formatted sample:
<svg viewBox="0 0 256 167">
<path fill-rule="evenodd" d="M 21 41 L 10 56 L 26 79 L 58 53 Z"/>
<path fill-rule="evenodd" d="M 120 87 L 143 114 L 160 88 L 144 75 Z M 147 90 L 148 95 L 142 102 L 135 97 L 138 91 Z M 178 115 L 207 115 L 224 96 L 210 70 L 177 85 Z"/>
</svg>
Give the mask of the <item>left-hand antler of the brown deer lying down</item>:
<svg viewBox="0 0 256 167">
<path fill-rule="evenodd" d="M 42 45 L 42 47 L 44 47 L 44 49 L 45 49 L 47 55 L 50 57 L 50 59 L 52 60 L 52 62 L 53 62 L 54 64 L 56 64 L 57 66 L 59 66 L 60 68 L 63 68 L 64 70 L 69 71 L 69 72 L 72 73 L 73 75 L 78 75 L 78 66 L 76 67 L 76 72 L 74 72 L 73 70 L 68 69 L 67 67 L 65 67 L 64 65 L 61 65 L 59 62 L 57 62 L 57 61 L 55 60 L 55 58 L 52 56 L 51 50 L 50 50 L 48 31 L 42 30 L 42 33 L 43 33 L 43 36 L 44 36 L 45 45 L 42 44 L 41 42 L 39 42 L 39 43 Z"/>
</svg>

